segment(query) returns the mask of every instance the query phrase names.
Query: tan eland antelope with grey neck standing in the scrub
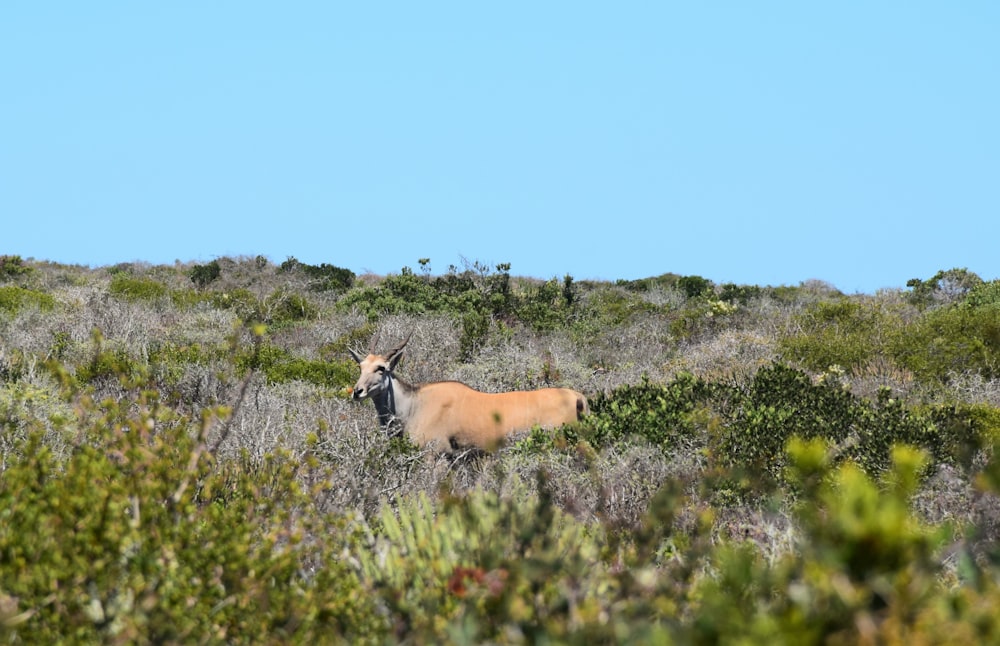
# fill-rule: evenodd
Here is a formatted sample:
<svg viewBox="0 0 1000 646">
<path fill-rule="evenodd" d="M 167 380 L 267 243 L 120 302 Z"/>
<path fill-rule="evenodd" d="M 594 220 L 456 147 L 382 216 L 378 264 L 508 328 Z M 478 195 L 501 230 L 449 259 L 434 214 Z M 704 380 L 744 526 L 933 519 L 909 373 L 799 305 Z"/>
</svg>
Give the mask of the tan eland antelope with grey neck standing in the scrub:
<svg viewBox="0 0 1000 646">
<path fill-rule="evenodd" d="M 555 428 L 589 410 L 587 398 L 569 388 L 484 393 L 458 381 L 412 386 L 394 373 L 410 336 L 388 354 L 375 354 L 378 337 L 367 356 L 350 348 L 348 352 L 361 368 L 352 397 L 371 399 L 382 428 L 392 434 L 405 431 L 417 446 L 433 445 L 445 452 L 492 450 L 512 433 L 535 426 Z"/>
</svg>

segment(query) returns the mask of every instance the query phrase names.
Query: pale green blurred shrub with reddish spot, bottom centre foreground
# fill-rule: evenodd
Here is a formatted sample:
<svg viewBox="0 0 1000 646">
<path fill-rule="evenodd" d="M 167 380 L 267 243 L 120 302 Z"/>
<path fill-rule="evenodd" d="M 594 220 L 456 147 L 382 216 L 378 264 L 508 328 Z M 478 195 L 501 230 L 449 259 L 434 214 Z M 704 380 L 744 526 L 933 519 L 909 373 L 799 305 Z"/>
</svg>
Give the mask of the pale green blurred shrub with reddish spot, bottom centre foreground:
<svg viewBox="0 0 1000 646">
<path fill-rule="evenodd" d="M 371 547 L 356 558 L 362 581 L 386 604 L 396 640 L 665 637 L 655 615 L 630 612 L 632 575 L 603 562 L 602 530 L 559 510 L 544 482 L 538 495 L 473 491 L 443 505 L 418 495 L 383 511 Z"/>
</svg>

